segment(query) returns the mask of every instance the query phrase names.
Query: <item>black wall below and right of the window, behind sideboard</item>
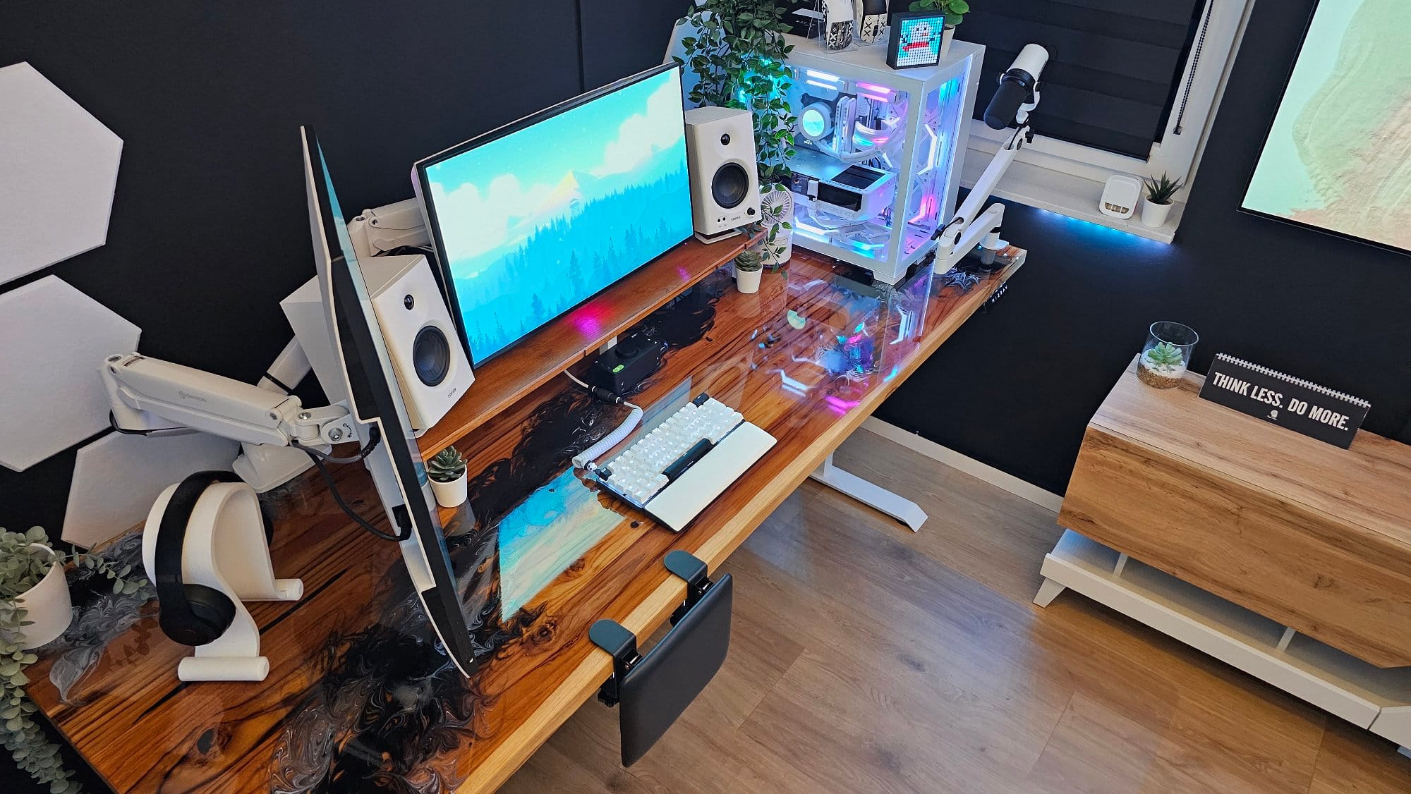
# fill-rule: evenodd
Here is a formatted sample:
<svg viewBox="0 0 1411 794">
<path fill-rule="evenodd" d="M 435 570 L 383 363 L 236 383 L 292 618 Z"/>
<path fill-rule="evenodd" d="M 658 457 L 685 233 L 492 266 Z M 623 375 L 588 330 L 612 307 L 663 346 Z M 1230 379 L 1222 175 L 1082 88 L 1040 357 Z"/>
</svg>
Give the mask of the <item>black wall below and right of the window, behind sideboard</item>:
<svg viewBox="0 0 1411 794">
<path fill-rule="evenodd" d="M 1249 358 L 1362 396 L 1364 429 L 1400 433 L 1411 257 L 1237 212 L 1314 4 L 1254 4 L 1174 245 L 1012 207 L 1005 237 L 1029 262 L 879 416 L 1061 494 L 1146 327 L 1180 320 L 1201 334 L 1197 369 Z"/>
</svg>

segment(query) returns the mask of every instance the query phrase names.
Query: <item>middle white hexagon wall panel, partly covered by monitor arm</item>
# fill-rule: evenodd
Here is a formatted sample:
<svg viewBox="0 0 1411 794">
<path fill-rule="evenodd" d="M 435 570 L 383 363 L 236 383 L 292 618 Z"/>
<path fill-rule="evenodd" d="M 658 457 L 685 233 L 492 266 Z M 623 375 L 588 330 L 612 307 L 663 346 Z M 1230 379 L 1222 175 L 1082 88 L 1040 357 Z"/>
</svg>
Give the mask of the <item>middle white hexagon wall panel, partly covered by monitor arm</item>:
<svg viewBox="0 0 1411 794">
<path fill-rule="evenodd" d="M 99 364 L 140 334 L 59 276 L 0 293 L 0 465 L 24 471 L 107 427 Z"/>
</svg>

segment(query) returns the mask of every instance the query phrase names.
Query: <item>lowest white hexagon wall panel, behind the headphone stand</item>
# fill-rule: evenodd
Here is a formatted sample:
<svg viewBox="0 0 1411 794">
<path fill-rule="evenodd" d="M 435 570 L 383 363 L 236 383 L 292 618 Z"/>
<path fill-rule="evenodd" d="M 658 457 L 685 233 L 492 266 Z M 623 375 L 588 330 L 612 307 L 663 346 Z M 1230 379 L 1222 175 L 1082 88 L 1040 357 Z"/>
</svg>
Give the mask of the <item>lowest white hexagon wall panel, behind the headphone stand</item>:
<svg viewBox="0 0 1411 794">
<path fill-rule="evenodd" d="M 238 451 L 236 441 L 209 433 L 103 436 L 73 464 L 63 540 L 90 547 L 117 537 L 143 523 L 162 488 L 198 471 L 229 471 Z"/>
</svg>

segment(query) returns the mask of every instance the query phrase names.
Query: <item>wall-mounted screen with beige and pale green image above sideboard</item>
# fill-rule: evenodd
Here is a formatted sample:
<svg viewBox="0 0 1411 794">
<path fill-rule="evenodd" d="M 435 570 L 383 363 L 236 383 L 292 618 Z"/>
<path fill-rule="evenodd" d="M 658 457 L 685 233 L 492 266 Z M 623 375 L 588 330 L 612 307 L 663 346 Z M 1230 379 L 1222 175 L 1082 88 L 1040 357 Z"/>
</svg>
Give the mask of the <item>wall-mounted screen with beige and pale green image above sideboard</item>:
<svg viewBox="0 0 1411 794">
<path fill-rule="evenodd" d="M 1411 250 L 1411 3 L 1324 0 L 1245 209 Z"/>
</svg>

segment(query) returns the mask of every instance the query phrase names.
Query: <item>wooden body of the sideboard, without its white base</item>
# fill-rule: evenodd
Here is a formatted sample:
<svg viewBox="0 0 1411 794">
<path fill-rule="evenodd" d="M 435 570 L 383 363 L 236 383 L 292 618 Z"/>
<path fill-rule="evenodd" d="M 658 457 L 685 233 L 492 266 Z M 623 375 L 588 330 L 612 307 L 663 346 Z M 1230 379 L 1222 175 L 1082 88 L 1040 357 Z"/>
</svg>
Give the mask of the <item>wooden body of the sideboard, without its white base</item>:
<svg viewBox="0 0 1411 794">
<path fill-rule="evenodd" d="M 1411 664 L 1411 447 L 1342 450 L 1136 362 L 1088 426 L 1058 522 L 1383 667 Z"/>
</svg>

